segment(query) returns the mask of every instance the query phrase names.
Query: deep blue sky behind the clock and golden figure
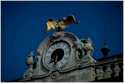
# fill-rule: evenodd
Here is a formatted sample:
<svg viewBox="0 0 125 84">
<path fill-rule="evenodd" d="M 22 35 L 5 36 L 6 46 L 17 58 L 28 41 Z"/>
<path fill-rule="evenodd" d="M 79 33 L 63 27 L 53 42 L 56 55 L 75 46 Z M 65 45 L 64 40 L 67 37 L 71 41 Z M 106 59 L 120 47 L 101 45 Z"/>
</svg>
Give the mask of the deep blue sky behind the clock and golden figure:
<svg viewBox="0 0 125 84">
<path fill-rule="evenodd" d="M 123 52 L 123 2 L 2 2 L 2 80 L 21 77 L 26 70 L 26 57 L 35 51 L 45 38 L 48 18 L 58 19 L 74 15 L 80 24 L 65 31 L 79 38 L 90 37 L 101 58 L 104 40 L 111 49 L 110 55 Z M 51 32 L 49 32 L 51 34 Z"/>
</svg>

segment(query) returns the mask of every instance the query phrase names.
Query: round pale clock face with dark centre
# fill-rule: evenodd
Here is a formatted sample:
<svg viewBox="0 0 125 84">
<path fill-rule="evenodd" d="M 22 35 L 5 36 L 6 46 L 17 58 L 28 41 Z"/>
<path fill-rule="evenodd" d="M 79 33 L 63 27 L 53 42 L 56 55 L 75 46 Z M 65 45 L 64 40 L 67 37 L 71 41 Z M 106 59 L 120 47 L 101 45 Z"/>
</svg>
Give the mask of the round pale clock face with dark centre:
<svg viewBox="0 0 125 84">
<path fill-rule="evenodd" d="M 44 66 L 47 69 L 61 69 L 70 56 L 70 47 L 66 42 L 57 42 L 51 45 L 43 58 Z"/>
</svg>

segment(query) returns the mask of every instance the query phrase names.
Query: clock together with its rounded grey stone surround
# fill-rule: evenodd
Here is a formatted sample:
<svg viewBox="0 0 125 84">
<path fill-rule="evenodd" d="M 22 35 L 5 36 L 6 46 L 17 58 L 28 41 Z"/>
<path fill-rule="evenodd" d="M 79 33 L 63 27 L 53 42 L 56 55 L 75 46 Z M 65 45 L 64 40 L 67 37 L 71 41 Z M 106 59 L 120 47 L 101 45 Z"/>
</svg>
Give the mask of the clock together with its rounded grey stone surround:
<svg viewBox="0 0 125 84">
<path fill-rule="evenodd" d="M 79 40 L 68 32 L 56 32 L 38 48 L 41 65 L 49 71 L 72 69 L 79 61 L 77 45 Z"/>
</svg>

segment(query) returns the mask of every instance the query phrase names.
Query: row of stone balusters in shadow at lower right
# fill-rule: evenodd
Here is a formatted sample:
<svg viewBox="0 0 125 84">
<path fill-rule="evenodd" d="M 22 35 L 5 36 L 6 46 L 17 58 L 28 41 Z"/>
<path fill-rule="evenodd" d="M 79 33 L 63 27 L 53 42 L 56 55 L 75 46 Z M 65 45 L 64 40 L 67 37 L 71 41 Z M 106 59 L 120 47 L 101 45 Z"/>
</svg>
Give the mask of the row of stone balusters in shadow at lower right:
<svg viewBox="0 0 125 84">
<path fill-rule="evenodd" d="M 110 62 L 98 62 L 95 66 L 96 77 L 95 80 L 115 78 L 123 76 L 123 62 L 122 60 Z"/>
</svg>

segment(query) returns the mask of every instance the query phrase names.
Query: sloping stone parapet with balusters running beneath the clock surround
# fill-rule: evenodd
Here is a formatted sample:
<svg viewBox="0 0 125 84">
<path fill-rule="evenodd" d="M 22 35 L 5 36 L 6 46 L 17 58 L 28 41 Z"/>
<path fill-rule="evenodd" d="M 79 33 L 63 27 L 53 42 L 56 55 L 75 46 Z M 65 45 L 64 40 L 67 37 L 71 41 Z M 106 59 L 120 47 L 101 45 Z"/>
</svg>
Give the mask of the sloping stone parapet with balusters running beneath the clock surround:
<svg viewBox="0 0 125 84">
<path fill-rule="evenodd" d="M 29 69 L 30 70 L 30 69 Z M 31 70 L 30 70 L 31 71 Z M 30 72 L 28 71 L 28 72 Z M 57 71 L 58 72 L 58 71 Z M 56 72 L 56 73 L 57 73 Z M 31 75 L 31 73 L 29 73 Z M 56 75 L 55 75 L 56 76 Z M 116 79 L 123 80 L 123 59 L 122 58 L 113 58 L 109 60 L 97 60 L 96 63 L 89 65 L 80 64 L 79 67 L 67 70 L 64 72 L 58 72 L 58 77 L 53 78 L 53 73 L 46 74 L 32 79 L 24 79 L 22 81 L 107 81 L 107 79 Z M 29 77 L 28 77 L 29 78 Z M 105 81 L 105 82 L 106 82 Z M 117 81 L 117 80 L 116 80 Z"/>
</svg>

